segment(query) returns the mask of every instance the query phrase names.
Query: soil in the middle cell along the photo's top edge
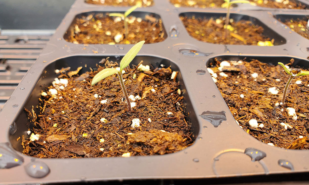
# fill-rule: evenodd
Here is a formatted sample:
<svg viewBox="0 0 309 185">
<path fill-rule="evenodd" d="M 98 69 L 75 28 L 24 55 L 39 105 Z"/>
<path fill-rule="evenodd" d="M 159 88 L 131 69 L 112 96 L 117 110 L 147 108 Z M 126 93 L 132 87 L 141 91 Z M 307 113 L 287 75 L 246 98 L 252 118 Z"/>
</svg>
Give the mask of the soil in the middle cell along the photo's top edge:
<svg viewBox="0 0 309 185">
<path fill-rule="evenodd" d="M 194 7 L 194 8 L 221 8 L 225 2 L 223 0 L 170 0 L 175 7 Z"/>
</svg>

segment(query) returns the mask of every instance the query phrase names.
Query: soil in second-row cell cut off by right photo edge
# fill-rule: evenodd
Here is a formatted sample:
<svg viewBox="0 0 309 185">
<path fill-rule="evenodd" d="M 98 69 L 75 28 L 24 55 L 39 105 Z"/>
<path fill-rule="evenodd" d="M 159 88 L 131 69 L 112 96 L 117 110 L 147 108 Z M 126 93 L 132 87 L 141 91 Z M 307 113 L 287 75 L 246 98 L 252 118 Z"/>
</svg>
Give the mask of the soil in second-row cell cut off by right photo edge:
<svg viewBox="0 0 309 185">
<path fill-rule="evenodd" d="M 303 20 L 303 19 L 297 19 L 297 20 L 290 19 L 290 20 L 286 20 L 284 22 L 284 24 L 286 24 L 292 31 L 295 31 L 299 35 L 302 35 L 306 39 L 309 39 L 309 30 L 307 28 L 308 18 L 306 18 L 306 19 L 307 20 Z"/>
</svg>

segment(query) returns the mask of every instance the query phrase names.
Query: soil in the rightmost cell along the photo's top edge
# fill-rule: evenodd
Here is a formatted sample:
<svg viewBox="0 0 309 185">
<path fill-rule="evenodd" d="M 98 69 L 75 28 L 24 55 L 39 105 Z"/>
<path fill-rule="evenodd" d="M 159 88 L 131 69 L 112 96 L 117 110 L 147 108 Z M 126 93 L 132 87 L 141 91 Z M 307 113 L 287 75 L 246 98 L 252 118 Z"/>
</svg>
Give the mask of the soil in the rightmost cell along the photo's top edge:
<svg viewBox="0 0 309 185">
<path fill-rule="evenodd" d="M 254 0 L 257 6 L 267 7 L 267 8 L 282 8 L 282 9 L 306 9 L 305 5 L 296 3 L 291 0 L 282 0 L 282 2 L 276 2 L 272 0 Z"/>
</svg>

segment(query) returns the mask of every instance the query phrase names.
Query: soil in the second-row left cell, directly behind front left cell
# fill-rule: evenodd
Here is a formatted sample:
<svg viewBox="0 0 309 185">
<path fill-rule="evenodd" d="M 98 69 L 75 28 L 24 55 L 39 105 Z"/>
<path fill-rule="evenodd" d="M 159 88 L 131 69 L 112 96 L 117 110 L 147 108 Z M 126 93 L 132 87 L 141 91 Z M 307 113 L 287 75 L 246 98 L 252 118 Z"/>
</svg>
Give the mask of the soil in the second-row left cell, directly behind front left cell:
<svg viewBox="0 0 309 185">
<path fill-rule="evenodd" d="M 161 19 L 150 15 L 146 15 L 144 19 L 134 16 L 128 18 L 128 38 L 125 38 L 124 21 L 120 17 L 90 14 L 75 19 L 65 39 L 76 44 L 134 44 L 142 40 L 146 43 L 157 43 L 165 39 Z M 118 41 L 115 36 L 118 37 Z"/>
</svg>

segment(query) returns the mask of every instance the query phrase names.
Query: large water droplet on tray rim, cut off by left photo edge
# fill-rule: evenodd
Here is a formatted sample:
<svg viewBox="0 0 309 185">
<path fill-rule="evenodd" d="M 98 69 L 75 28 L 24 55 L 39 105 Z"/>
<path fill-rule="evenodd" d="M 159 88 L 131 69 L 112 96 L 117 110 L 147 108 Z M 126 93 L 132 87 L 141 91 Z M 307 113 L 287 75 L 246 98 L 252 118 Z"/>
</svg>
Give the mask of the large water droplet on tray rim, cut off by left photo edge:
<svg viewBox="0 0 309 185">
<path fill-rule="evenodd" d="M 0 169 L 11 168 L 23 164 L 23 158 L 17 155 L 8 144 L 0 143 Z"/>
</svg>

